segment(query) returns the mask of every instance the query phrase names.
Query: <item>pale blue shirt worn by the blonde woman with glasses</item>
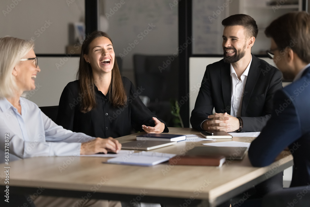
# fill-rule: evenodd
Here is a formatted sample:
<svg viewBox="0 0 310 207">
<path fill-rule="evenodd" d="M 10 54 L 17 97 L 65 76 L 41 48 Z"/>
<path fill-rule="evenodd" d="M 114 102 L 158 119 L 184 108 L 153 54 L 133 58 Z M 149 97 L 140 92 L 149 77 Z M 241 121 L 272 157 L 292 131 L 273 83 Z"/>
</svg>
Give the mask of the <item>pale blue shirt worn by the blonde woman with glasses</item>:
<svg viewBox="0 0 310 207">
<path fill-rule="evenodd" d="M 6 98 L 0 99 L 0 163 L 7 151 L 10 162 L 35 156 L 78 156 L 81 142 L 94 139 L 58 126 L 25 98 L 20 98 L 20 105 L 21 115 Z M 5 142 L 5 134 L 9 142 Z M 9 143 L 7 151 L 5 143 Z"/>
</svg>

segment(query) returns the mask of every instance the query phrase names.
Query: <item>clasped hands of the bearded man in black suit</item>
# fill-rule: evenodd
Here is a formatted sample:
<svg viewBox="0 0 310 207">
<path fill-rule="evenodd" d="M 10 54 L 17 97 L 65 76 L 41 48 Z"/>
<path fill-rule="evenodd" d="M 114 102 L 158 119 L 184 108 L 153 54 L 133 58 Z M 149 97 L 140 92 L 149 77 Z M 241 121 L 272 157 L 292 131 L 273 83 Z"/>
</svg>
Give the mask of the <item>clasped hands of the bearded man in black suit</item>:
<svg viewBox="0 0 310 207">
<path fill-rule="evenodd" d="M 215 113 L 215 115 L 209 115 L 208 120 L 201 124 L 201 128 L 206 131 L 233 132 L 238 130 L 239 127 L 239 119 L 227 113 Z"/>
</svg>

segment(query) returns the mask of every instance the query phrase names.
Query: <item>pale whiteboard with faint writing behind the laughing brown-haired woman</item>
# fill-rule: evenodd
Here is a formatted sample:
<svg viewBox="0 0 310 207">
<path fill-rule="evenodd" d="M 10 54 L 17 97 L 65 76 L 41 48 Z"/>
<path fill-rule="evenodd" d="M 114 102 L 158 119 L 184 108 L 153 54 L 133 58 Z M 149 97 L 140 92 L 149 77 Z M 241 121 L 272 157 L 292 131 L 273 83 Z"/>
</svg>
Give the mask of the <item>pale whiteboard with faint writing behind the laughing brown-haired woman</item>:
<svg viewBox="0 0 310 207">
<path fill-rule="evenodd" d="M 104 1 L 100 6 L 100 16 L 104 16 L 108 23 L 104 32 L 112 38 L 115 55 L 125 55 L 122 60 L 125 70 L 133 68 L 134 54 L 169 55 L 178 52 L 178 1 L 124 0 L 121 5 L 120 2 Z"/>
</svg>

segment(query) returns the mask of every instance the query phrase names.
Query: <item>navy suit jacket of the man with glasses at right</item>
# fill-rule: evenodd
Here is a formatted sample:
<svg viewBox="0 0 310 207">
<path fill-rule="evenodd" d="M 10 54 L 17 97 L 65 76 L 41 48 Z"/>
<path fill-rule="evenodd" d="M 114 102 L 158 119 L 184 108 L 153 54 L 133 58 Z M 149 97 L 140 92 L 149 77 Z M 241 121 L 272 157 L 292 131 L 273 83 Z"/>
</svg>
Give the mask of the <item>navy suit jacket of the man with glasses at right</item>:
<svg viewBox="0 0 310 207">
<path fill-rule="evenodd" d="M 271 119 L 250 146 L 250 161 L 255 167 L 267 166 L 287 146 L 294 157 L 291 187 L 309 185 L 310 67 L 275 94 Z"/>
</svg>

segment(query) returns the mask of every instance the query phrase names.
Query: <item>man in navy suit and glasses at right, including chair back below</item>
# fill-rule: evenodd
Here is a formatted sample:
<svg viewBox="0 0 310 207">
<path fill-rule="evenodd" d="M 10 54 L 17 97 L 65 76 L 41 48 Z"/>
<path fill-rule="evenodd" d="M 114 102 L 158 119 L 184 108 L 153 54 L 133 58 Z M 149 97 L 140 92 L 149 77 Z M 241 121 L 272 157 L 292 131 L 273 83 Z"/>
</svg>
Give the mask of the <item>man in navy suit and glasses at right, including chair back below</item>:
<svg viewBox="0 0 310 207">
<path fill-rule="evenodd" d="M 310 205 L 310 15 L 285 14 L 265 30 L 271 38 L 270 55 L 293 83 L 276 92 L 272 116 L 251 144 L 253 166 L 271 164 L 286 147 L 294 157 L 290 188 L 272 193 L 264 206 Z M 286 153 L 289 154 L 289 153 Z M 301 187 L 303 186 L 303 187 Z"/>
</svg>

